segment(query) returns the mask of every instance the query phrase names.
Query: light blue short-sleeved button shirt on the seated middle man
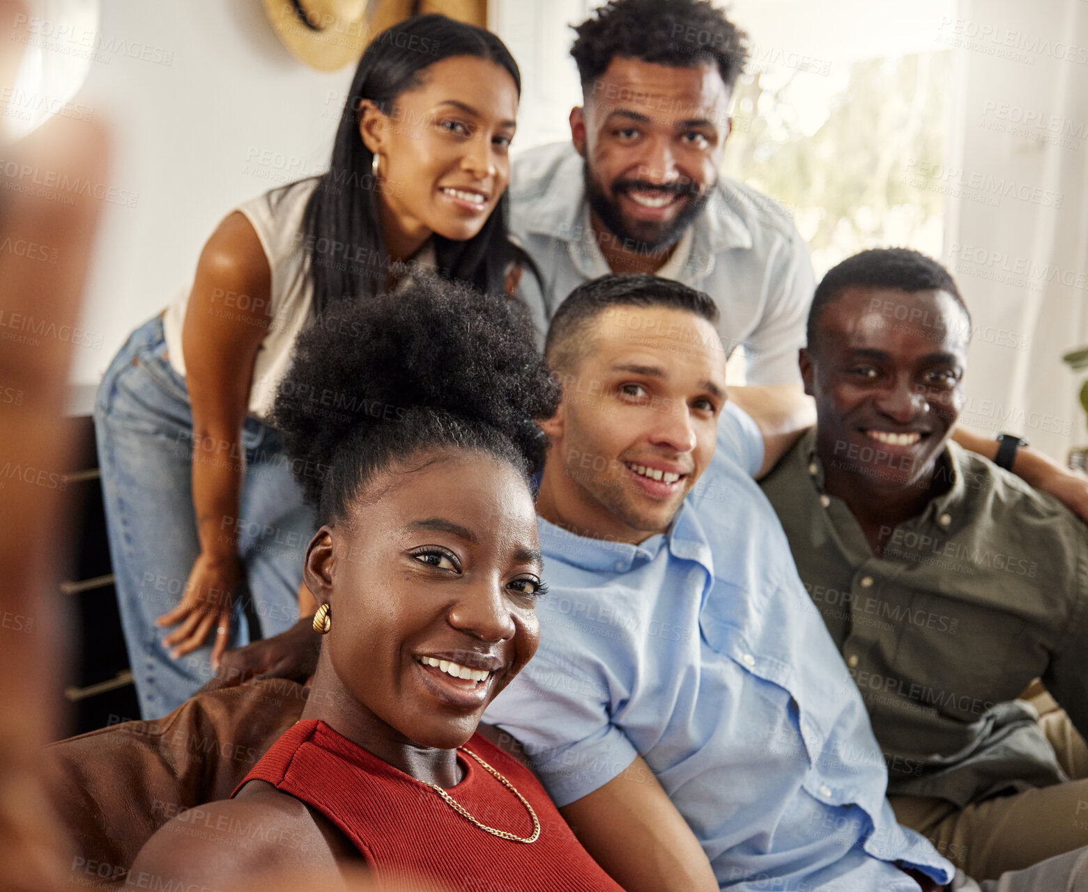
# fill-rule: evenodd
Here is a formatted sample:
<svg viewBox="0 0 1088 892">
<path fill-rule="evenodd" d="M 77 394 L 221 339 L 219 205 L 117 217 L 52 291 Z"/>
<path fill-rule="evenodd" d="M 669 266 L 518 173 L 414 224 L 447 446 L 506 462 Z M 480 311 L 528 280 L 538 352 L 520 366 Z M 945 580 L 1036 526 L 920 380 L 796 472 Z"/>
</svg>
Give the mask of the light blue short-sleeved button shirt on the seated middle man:
<svg viewBox="0 0 1088 892">
<path fill-rule="evenodd" d="M 559 805 L 641 754 L 722 889 L 902 890 L 951 865 L 901 828 L 857 689 L 752 479 L 739 411 L 667 535 L 639 545 L 540 519 L 536 655 L 487 709 Z"/>
</svg>

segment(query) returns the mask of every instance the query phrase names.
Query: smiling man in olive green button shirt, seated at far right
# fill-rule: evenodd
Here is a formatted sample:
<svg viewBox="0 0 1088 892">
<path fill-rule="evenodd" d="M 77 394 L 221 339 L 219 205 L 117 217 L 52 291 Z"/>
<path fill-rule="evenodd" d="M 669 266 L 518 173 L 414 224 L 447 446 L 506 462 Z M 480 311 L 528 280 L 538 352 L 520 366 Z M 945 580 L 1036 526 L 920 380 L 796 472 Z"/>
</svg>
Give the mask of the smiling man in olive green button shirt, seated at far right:
<svg viewBox="0 0 1088 892">
<path fill-rule="evenodd" d="M 1088 780 L 1016 700 L 1041 677 L 1088 730 L 1088 528 L 949 439 L 969 337 L 954 281 L 922 254 L 829 272 L 801 351 L 817 426 L 763 487 L 897 816 L 982 879 L 1088 843 Z"/>
</svg>

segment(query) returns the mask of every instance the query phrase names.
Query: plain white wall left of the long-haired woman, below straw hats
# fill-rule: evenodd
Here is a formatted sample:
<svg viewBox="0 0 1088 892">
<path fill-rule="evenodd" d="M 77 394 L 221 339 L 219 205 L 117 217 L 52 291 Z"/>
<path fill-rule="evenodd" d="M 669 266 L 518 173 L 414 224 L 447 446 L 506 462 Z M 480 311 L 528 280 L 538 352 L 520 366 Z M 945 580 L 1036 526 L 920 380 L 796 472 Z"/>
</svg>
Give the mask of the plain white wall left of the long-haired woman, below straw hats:
<svg viewBox="0 0 1088 892">
<path fill-rule="evenodd" d="M 296 62 L 260 0 L 106 0 L 97 46 L 77 101 L 112 125 L 112 185 L 136 198 L 104 206 L 83 313 L 101 347 L 76 349 L 75 384 L 189 281 L 234 205 L 327 163 L 354 73 Z"/>
</svg>

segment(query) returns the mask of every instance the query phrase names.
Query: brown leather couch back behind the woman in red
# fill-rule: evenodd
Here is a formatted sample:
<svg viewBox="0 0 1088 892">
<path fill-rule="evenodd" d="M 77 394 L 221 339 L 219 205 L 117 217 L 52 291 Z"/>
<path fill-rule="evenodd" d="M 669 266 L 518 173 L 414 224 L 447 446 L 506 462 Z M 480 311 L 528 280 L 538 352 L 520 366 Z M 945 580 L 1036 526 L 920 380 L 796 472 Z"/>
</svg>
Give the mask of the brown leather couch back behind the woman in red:
<svg viewBox="0 0 1088 892">
<path fill-rule="evenodd" d="M 163 824 L 231 795 L 298 720 L 309 691 L 285 679 L 250 681 L 198 694 L 165 718 L 125 721 L 48 746 L 51 793 L 75 847 L 71 881 L 123 882 Z"/>
</svg>

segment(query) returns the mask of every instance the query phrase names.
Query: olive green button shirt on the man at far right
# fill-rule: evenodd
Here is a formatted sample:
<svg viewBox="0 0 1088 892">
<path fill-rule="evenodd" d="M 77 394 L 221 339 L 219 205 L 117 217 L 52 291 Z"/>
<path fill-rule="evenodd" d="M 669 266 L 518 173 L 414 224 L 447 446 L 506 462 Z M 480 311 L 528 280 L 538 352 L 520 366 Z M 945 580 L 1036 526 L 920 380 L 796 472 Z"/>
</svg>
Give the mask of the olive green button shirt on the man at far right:
<svg viewBox="0 0 1088 892">
<path fill-rule="evenodd" d="M 880 557 L 824 492 L 815 428 L 762 485 L 868 708 L 889 794 L 962 807 L 1067 780 L 1015 698 L 1041 677 L 1088 731 L 1088 528 L 954 442 L 938 474 L 948 491 Z"/>
</svg>

